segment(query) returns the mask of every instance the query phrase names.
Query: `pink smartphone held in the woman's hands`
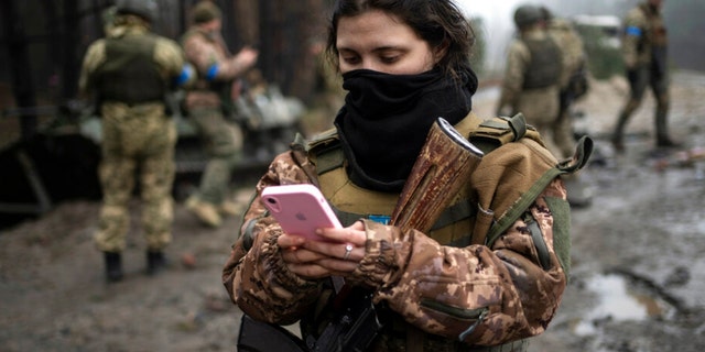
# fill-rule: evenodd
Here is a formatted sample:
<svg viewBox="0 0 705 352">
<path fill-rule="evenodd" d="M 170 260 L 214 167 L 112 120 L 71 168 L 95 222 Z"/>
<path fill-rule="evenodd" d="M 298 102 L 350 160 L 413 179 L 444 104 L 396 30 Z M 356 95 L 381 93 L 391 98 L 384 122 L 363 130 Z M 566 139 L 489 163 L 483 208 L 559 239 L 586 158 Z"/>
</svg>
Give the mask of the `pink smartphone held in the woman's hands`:
<svg viewBox="0 0 705 352">
<path fill-rule="evenodd" d="M 316 235 L 316 229 L 343 228 L 328 201 L 314 185 L 269 186 L 262 190 L 261 198 L 282 230 L 289 234 L 327 241 Z"/>
</svg>

